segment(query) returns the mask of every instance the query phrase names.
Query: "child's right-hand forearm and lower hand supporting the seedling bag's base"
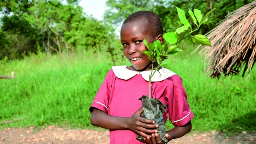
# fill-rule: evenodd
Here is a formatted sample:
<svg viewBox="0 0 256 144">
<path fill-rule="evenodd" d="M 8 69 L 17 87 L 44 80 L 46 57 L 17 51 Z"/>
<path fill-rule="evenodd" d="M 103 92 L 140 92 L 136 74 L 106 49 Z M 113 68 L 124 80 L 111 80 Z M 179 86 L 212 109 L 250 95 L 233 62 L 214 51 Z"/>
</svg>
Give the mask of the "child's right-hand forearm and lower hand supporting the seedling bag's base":
<svg viewBox="0 0 256 144">
<path fill-rule="evenodd" d="M 171 130 L 166 131 L 165 137 L 168 139 L 168 141 L 171 141 L 172 139 L 180 138 L 186 135 L 191 131 L 191 129 L 192 129 L 192 123 L 191 121 L 189 121 L 187 124 L 181 127 L 175 126 Z M 161 139 L 158 133 L 152 133 L 151 136 L 148 135 L 144 137 L 144 141 L 147 144 L 162 144 L 162 142 L 160 142 Z"/>
</svg>

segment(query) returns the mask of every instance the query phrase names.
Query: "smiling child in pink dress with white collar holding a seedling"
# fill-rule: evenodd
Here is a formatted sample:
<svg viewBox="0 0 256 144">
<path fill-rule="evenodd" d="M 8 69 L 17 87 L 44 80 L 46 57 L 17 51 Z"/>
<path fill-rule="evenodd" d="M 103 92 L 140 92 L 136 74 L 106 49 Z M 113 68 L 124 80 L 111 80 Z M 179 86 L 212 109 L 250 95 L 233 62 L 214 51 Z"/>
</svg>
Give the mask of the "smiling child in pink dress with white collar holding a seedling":
<svg viewBox="0 0 256 144">
<path fill-rule="evenodd" d="M 102 83 L 90 107 L 91 124 L 110 130 L 110 144 L 140 144 L 137 135 L 147 144 L 162 144 L 158 127 L 154 121 L 140 116 L 142 95 L 149 95 L 149 75 L 152 62 L 143 50 L 147 50 L 143 39 L 163 43 L 163 26 L 157 14 L 138 11 L 124 21 L 121 28 L 123 52 L 132 66 L 113 66 Z M 157 67 L 157 63 L 154 63 Z M 182 79 L 171 70 L 159 68 L 152 77 L 152 97 L 166 106 L 163 114 L 175 126 L 166 131 L 168 141 L 180 138 L 191 128 L 193 113 L 187 103 L 187 94 Z"/>
</svg>

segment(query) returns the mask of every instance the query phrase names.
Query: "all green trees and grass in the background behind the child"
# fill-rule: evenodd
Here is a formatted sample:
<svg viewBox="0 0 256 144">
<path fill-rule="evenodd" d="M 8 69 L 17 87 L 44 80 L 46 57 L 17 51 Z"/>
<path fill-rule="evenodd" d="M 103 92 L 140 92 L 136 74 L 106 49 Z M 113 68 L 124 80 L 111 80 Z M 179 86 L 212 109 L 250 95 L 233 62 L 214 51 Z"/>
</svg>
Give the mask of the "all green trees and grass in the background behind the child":
<svg viewBox="0 0 256 144">
<path fill-rule="evenodd" d="M 138 10 L 151 10 L 163 21 L 165 31 L 180 27 L 174 6 L 197 8 L 205 15 L 205 34 L 224 16 L 252 0 L 108 0 L 104 21 L 82 13 L 76 0 L 66 5 L 57 0 L 0 0 L 4 16 L 0 28 L 0 75 L 16 74 L 15 80 L 0 79 L 0 121 L 6 127 L 59 125 L 92 127 L 89 107 L 113 64 L 123 61 L 122 45 L 113 33 Z M 188 16 L 187 16 L 188 17 Z M 190 19 L 188 19 L 191 22 Z M 189 54 L 196 45 L 189 41 L 184 52 L 168 61 L 183 79 L 188 102 L 195 114 L 193 130 L 255 130 L 256 70 L 250 80 L 240 76 L 210 79 L 204 76 L 203 57 Z M 114 63 L 115 62 L 115 63 Z M 166 127 L 172 127 L 170 122 Z"/>
</svg>

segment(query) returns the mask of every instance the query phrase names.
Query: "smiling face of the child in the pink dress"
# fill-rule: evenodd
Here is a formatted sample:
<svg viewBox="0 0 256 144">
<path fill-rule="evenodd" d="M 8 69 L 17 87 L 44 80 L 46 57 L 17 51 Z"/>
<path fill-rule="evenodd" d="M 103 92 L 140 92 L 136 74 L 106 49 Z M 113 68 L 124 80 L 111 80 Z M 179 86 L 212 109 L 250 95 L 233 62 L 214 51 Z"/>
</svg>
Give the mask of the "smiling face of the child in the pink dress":
<svg viewBox="0 0 256 144">
<path fill-rule="evenodd" d="M 120 35 L 124 56 L 130 61 L 135 70 L 142 70 L 152 63 L 148 56 L 142 53 L 142 51 L 148 50 L 143 43 L 143 39 L 145 38 L 149 43 L 153 43 L 157 38 L 152 38 L 150 32 L 145 29 L 142 22 L 126 23 L 121 28 Z"/>
</svg>

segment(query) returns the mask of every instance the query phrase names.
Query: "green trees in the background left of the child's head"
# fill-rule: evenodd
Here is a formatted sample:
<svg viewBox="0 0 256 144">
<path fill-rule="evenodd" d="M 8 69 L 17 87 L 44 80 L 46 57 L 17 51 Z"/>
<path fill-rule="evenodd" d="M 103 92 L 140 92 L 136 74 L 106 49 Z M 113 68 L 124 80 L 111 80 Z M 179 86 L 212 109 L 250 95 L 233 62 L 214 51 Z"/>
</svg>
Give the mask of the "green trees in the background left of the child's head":
<svg viewBox="0 0 256 144">
<path fill-rule="evenodd" d="M 113 39 L 113 28 L 105 23 L 88 17 L 83 13 L 77 0 L 2 0 L 0 8 L 5 14 L 1 29 L 10 37 L 17 37 L 14 45 L 23 45 L 23 49 L 11 45 L 5 55 L 8 58 L 21 58 L 28 52 L 36 53 L 37 44 L 44 52 L 70 52 L 74 49 L 100 48 L 107 39 Z M 25 41 L 20 41 L 25 39 Z M 29 43 L 29 45 L 28 45 Z M 13 56 L 9 56 L 12 53 Z M 4 57 L 0 56 L 0 59 Z"/>
</svg>

